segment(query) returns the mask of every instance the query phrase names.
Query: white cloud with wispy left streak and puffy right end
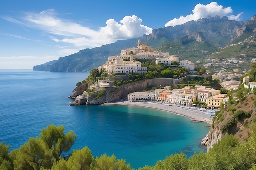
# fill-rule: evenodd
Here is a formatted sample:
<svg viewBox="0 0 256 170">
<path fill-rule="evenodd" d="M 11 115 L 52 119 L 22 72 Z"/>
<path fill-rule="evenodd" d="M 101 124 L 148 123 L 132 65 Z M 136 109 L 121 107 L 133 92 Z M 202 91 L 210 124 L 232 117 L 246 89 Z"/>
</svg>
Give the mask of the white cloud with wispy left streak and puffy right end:
<svg viewBox="0 0 256 170">
<path fill-rule="evenodd" d="M 109 19 L 106 21 L 106 26 L 99 27 L 98 30 L 92 30 L 76 22 L 58 18 L 54 9 L 48 9 L 40 13 L 27 12 L 21 21 L 7 17 L 5 19 L 48 33 L 50 34 L 49 39 L 54 42 L 67 43 L 81 48 L 84 46 L 96 47 L 117 40 L 137 38 L 152 32 L 151 28 L 141 24 L 142 20 L 136 15 L 125 16 L 119 23 L 114 19 Z"/>
</svg>

